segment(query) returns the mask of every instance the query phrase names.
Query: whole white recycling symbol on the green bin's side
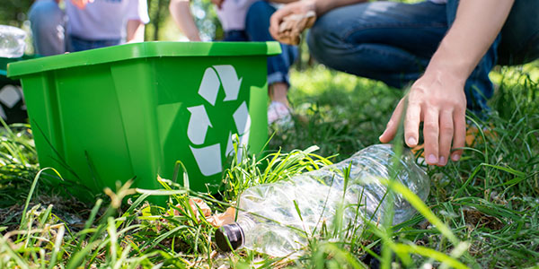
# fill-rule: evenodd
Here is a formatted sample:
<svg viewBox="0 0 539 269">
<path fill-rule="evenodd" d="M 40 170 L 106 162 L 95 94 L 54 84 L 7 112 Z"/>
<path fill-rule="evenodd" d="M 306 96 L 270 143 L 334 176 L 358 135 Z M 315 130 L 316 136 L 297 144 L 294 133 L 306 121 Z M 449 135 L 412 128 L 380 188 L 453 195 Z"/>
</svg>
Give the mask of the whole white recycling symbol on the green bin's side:
<svg viewBox="0 0 539 269">
<path fill-rule="evenodd" d="M 240 92 L 243 78 L 238 78 L 233 65 L 213 65 L 208 67 L 202 77 L 199 86 L 199 96 L 207 100 L 209 105 L 216 105 L 217 94 L 221 85 L 225 91 L 224 102 L 236 101 Z M 212 127 L 211 119 L 208 117 L 204 104 L 187 108 L 190 112 L 187 136 L 190 140 L 190 151 L 195 157 L 200 172 L 204 176 L 215 175 L 223 171 L 221 160 L 221 144 L 215 143 L 201 146 L 206 141 L 209 127 Z M 235 109 L 232 117 L 237 133 L 229 131 L 226 142 L 225 155 L 234 153 L 234 138 L 238 135 L 238 159 L 241 159 L 242 145 L 246 145 L 249 140 L 249 130 L 251 128 L 251 117 L 247 108 L 247 103 L 243 101 Z M 223 145 L 224 146 L 224 145 Z"/>
</svg>

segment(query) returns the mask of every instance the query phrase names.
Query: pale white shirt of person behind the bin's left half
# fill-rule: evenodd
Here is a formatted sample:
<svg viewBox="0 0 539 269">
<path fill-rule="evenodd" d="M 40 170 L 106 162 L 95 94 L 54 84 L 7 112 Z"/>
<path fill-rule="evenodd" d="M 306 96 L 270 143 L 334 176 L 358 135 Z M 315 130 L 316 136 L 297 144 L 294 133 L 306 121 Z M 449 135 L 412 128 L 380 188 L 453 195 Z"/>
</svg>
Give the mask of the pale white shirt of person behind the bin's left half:
<svg viewBox="0 0 539 269">
<path fill-rule="evenodd" d="M 150 22 L 146 0 L 95 0 L 83 10 L 65 3 L 67 32 L 81 39 L 122 39 L 129 20 Z"/>
</svg>

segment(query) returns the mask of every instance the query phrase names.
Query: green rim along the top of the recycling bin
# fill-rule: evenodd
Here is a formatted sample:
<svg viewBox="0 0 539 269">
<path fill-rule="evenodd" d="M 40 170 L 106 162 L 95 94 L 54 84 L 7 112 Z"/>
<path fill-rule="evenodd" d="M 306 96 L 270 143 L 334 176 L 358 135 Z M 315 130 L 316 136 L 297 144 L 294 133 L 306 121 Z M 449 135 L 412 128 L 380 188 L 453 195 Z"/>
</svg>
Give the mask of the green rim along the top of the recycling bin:
<svg viewBox="0 0 539 269">
<path fill-rule="evenodd" d="M 280 44 L 268 42 L 169 42 L 150 41 L 90 49 L 56 56 L 45 56 L 7 65 L 7 77 L 99 65 L 137 58 L 163 56 L 275 56 Z"/>
</svg>

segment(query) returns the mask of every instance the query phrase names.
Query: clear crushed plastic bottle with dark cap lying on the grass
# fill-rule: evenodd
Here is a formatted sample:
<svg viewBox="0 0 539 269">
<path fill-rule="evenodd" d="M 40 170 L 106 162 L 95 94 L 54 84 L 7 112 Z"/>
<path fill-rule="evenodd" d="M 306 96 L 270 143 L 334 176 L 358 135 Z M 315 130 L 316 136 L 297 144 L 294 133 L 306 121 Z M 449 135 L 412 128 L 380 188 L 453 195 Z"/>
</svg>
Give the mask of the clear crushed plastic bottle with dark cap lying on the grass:
<svg viewBox="0 0 539 269">
<path fill-rule="evenodd" d="M 340 206 L 345 208 L 340 214 L 342 227 L 358 227 L 364 220 L 358 214 L 375 222 L 384 220 L 388 200 L 393 200 L 393 224 L 409 220 L 415 209 L 402 195 L 390 192 L 393 199 L 388 199 L 379 179 L 390 178 L 393 168 L 398 168 L 395 179 L 424 201 L 429 178 L 409 150 L 402 152 L 398 166 L 393 165 L 394 156 L 393 145 L 376 144 L 323 169 L 246 189 L 238 199 L 236 222 L 216 231 L 217 247 L 224 251 L 245 247 L 270 256 L 300 255 L 307 245 L 305 234 L 320 230 L 324 221 L 331 226 Z M 348 168 L 345 183 L 343 170 Z"/>
</svg>

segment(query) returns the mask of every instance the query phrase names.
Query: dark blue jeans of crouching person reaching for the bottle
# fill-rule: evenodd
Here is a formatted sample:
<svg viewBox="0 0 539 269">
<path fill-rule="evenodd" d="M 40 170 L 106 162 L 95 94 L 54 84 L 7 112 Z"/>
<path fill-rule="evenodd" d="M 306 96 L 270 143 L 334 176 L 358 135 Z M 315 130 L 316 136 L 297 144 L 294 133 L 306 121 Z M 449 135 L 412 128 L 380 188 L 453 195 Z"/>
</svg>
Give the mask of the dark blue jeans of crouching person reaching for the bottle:
<svg viewBox="0 0 539 269">
<path fill-rule="evenodd" d="M 539 1 L 526 3 L 531 2 L 534 2 L 531 9 L 537 11 Z M 402 88 L 424 72 L 430 57 L 455 21 L 457 5 L 458 0 L 449 0 L 447 4 L 372 2 L 344 6 L 320 17 L 307 42 L 311 53 L 324 65 Z M 510 16 L 519 15 L 515 11 L 517 5 Z M 535 46 L 532 49 L 535 52 L 527 52 L 528 59 L 536 58 L 539 52 L 536 41 L 539 39 L 539 22 L 536 13 L 533 14 L 535 18 L 531 15 L 520 18 L 529 24 L 529 28 L 534 28 L 520 31 L 535 33 L 535 37 L 518 38 L 522 48 Z M 509 27 L 509 30 L 515 29 Z M 493 93 L 489 73 L 497 63 L 500 40 L 501 35 L 466 81 L 467 107 L 474 112 L 488 109 L 487 100 Z"/>
</svg>

